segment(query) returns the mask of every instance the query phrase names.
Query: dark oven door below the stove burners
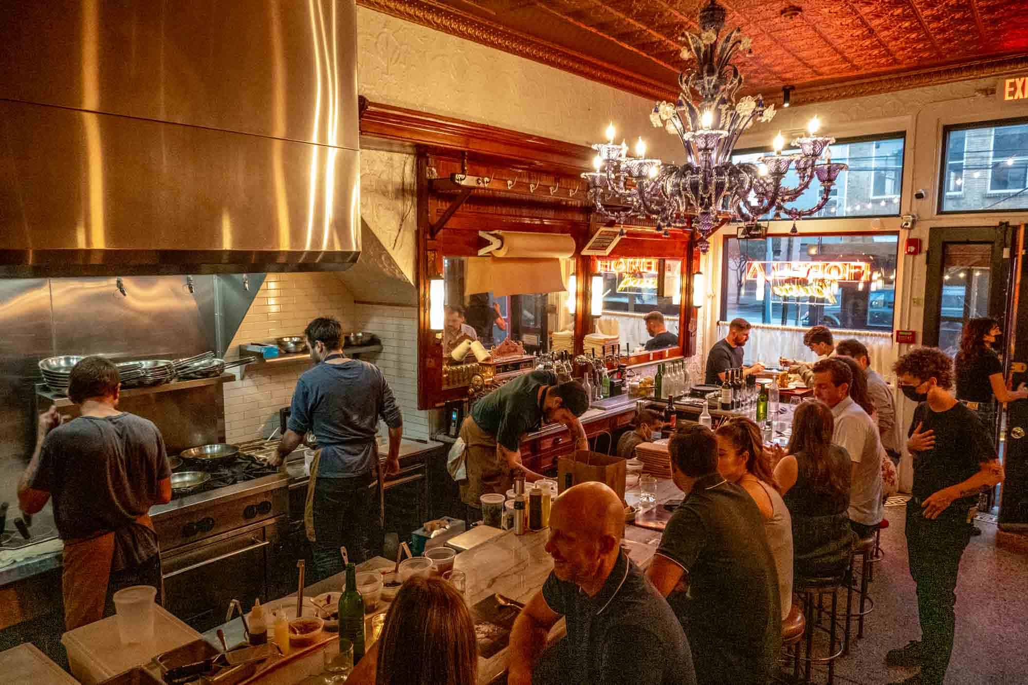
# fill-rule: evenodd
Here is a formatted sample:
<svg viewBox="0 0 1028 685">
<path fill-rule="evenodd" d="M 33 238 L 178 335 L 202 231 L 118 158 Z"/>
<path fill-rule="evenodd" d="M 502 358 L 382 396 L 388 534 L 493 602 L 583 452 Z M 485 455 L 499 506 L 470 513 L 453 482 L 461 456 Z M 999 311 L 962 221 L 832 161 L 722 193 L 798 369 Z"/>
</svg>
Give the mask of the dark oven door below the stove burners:
<svg viewBox="0 0 1028 685">
<path fill-rule="evenodd" d="M 164 608 L 200 633 L 225 621 L 228 603 L 267 599 L 267 568 L 285 516 L 161 554 Z"/>
</svg>

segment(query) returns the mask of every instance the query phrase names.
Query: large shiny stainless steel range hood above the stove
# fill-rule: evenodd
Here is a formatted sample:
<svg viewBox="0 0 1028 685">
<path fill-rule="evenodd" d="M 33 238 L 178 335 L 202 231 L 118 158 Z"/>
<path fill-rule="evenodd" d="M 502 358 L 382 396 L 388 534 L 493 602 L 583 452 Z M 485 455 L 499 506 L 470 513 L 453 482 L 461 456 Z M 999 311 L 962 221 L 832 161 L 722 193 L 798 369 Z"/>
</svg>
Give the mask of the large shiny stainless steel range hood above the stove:
<svg viewBox="0 0 1028 685">
<path fill-rule="evenodd" d="M 0 12 L 0 277 L 342 271 L 355 0 Z"/>
</svg>

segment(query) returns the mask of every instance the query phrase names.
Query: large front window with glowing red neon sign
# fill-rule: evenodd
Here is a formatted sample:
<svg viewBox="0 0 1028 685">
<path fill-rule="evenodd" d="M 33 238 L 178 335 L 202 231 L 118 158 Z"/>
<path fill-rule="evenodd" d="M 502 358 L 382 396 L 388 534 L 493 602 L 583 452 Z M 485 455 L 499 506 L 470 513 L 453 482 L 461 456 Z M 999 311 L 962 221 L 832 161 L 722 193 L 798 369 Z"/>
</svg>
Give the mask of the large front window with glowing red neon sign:
<svg viewBox="0 0 1028 685">
<path fill-rule="evenodd" d="M 892 330 L 895 235 L 725 239 L 721 318 Z"/>
</svg>

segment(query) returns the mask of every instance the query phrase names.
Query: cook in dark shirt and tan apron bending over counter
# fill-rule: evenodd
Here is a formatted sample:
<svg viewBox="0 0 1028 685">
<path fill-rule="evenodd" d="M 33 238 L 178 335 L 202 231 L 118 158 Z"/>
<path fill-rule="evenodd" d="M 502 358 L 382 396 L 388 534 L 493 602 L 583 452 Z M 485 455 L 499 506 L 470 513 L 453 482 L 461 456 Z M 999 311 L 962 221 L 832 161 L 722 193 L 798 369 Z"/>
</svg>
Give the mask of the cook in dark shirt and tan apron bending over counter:
<svg viewBox="0 0 1028 685">
<path fill-rule="evenodd" d="M 521 438 L 542 424 L 560 423 L 576 436 L 576 449 L 588 449 L 582 422 L 589 396 L 577 381 L 557 383 L 552 371 L 531 371 L 508 381 L 478 400 L 461 426 L 467 445 L 468 478 L 461 481 L 461 499 L 480 506 L 488 493 L 503 495 L 515 477 L 535 482 L 543 476 L 521 463 Z"/>
</svg>

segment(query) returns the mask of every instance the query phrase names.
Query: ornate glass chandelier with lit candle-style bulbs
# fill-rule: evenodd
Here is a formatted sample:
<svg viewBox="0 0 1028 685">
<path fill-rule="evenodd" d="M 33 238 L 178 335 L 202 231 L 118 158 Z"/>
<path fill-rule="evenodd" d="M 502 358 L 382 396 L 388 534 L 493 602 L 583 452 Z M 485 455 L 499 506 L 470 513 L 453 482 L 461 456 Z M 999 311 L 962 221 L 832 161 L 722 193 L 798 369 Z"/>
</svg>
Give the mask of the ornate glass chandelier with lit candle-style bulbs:
<svg viewBox="0 0 1028 685">
<path fill-rule="evenodd" d="M 818 136 L 820 121 L 815 116 L 807 135 L 795 139 L 795 154 L 782 154 L 784 140 L 774 139 L 774 154 L 756 164 L 733 163 L 732 150 L 739 137 L 754 122 L 774 118 L 774 105 L 765 106 L 761 96 L 736 101 L 742 75 L 731 63 L 737 50 L 749 49 L 749 38 L 735 29 L 721 36 L 727 12 L 713 0 L 699 12 L 699 33 L 687 33 L 688 49 L 696 64 L 678 76 L 678 100 L 673 105 L 660 102 L 650 113 L 655 128 L 677 136 L 686 153 L 682 165 L 668 165 L 646 156 L 639 138 L 634 156 L 628 146 L 614 142 L 614 124 L 607 129 L 607 142 L 596 150 L 594 172 L 582 174 L 588 197 L 596 212 L 618 223 L 630 218 L 656 219 L 657 229 L 691 227 L 699 233 L 698 247 L 706 252 L 707 239 L 728 221 L 754 224 L 759 217 L 774 212 L 793 219 L 816 214 L 829 200 L 832 186 L 846 165 L 833 164 L 828 146 L 835 138 Z M 683 58 L 690 52 L 683 49 Z M 822 159 L 821 154 L 827 153 Z M 794 169 L 799 177 L 795 187 L 783 185 Z M 821 194 L 809 209 L 790 206 L 806 191 L 814 177 Z M 665 233 L 666 235 L 666 233 Z"/>
</svg>

